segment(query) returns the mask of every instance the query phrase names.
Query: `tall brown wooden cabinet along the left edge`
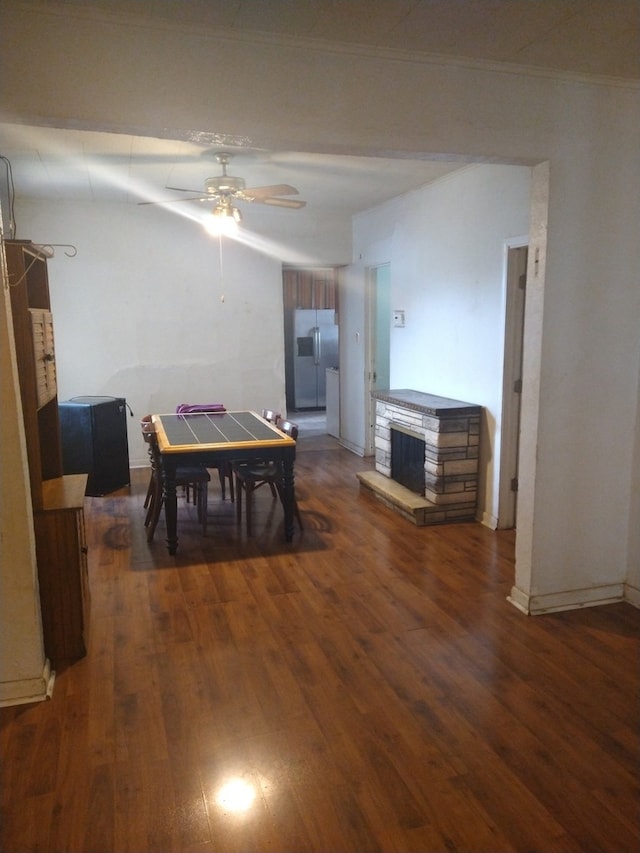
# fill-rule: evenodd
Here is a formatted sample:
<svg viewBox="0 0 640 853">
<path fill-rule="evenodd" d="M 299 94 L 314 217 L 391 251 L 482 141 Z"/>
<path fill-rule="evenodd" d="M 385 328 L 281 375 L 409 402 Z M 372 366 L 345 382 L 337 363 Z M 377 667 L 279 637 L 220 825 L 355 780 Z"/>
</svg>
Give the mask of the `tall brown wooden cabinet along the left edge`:
<svg viewBox="0 0 640 853">
<path fill-rule="evenodd" d="M 5 241 L 20 382 L 40 609 L 47 657 L 85 654 L 89 587 L 84 529 L 86 475 L 63 476 L 48 254 L 28 240 Z"/>
</svg>

